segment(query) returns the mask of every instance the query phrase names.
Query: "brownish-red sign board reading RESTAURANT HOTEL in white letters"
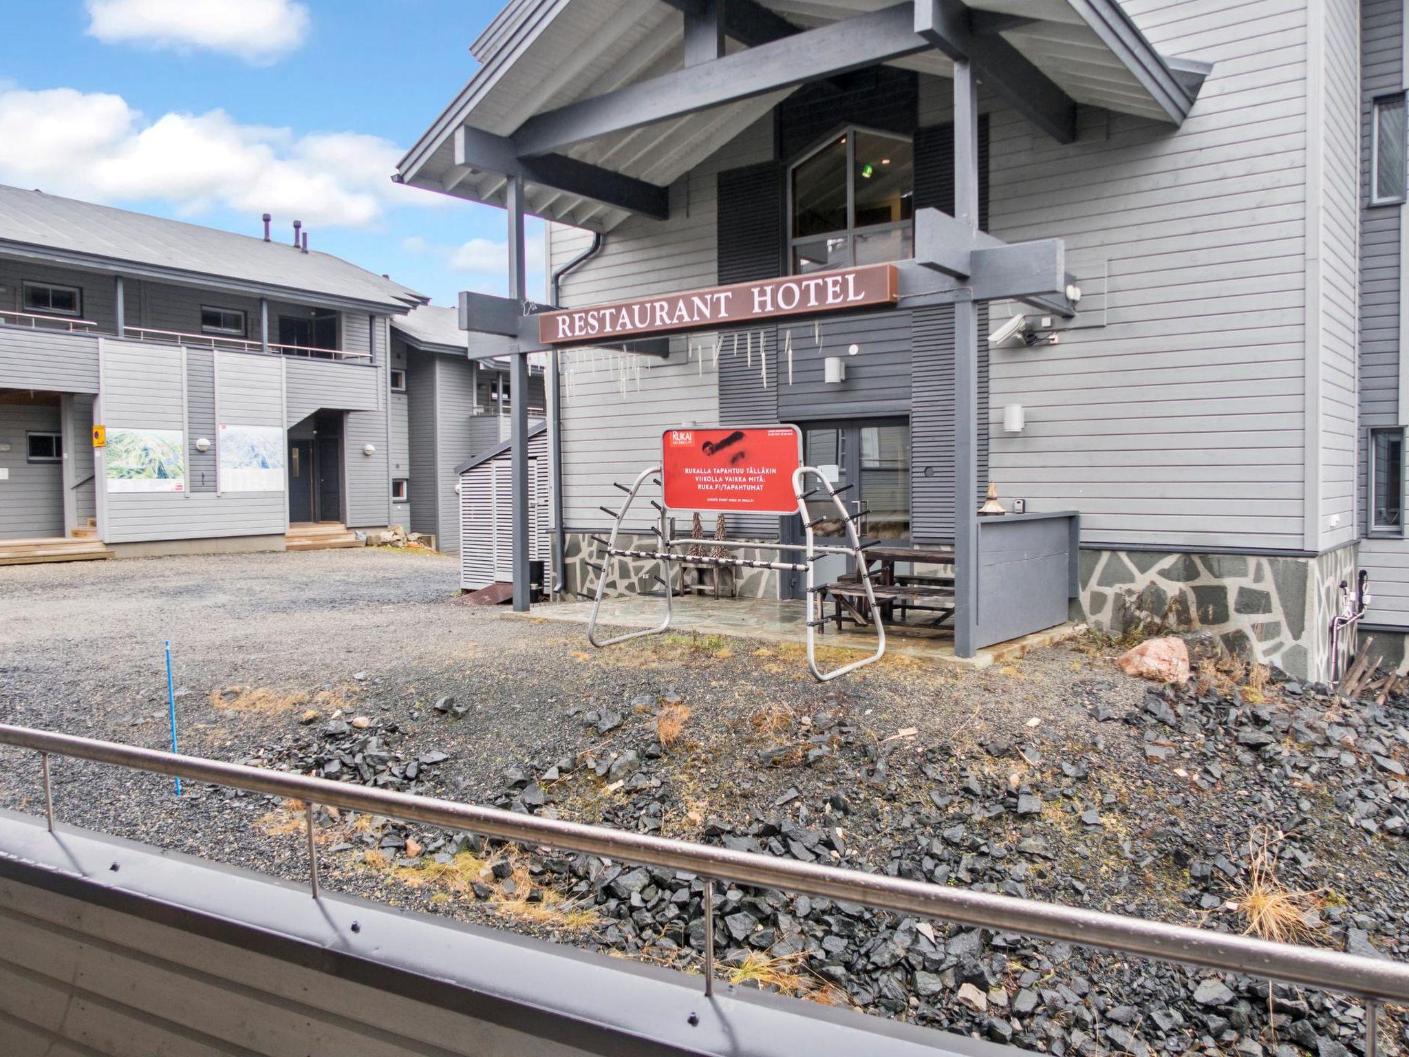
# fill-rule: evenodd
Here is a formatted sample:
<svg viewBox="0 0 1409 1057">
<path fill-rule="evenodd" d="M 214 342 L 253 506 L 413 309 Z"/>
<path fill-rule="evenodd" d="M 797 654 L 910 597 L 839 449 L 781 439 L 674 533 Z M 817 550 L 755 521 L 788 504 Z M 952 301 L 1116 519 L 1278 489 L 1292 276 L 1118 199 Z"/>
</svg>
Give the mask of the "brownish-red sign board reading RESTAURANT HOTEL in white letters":
<svg viewBox="0 0 1409 1057">
<path fill-rule="evenodd" d="M 709 330 L 761 323 L 779 316 L 810 316 L 895 304 L 899 282 L 893 264 L 759 279 L 706 290 L 596 304 L 538 316 L 544 345 L 582 345 L 613 338 Z"/>
</svg>

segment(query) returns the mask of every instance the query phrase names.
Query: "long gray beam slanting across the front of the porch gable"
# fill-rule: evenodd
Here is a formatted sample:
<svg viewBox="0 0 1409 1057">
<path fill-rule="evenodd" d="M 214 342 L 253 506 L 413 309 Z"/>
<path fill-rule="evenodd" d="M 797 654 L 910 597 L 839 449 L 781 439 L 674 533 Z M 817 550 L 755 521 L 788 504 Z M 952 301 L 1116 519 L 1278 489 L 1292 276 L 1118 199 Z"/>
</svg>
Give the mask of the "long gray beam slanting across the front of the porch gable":
<svg viewBox="0 0 1409 1057">
<path fill-rule="evenodd" d="M 552 154 L 931 47 L 916 32 L 910 4 L 898 4 L 535 114 L 514 131 L 513 140 L 520 155 Z"/>
</svg>

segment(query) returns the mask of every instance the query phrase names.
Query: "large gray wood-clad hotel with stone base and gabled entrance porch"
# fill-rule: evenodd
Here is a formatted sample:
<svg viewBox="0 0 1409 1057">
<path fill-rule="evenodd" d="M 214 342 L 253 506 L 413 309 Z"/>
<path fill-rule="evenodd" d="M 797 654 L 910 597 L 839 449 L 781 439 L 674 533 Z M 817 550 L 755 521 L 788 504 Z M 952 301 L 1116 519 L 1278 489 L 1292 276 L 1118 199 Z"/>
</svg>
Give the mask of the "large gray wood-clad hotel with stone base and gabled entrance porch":
<svg viewBox="0 0 1409 1057">
<path fill-rule="evenodd" d="M 568 307 L 906 266 L 913 218 L 964 221 L 974 182 L 989 235 L 1064 247 L 1078 302 L 974 326 L 962 293 L 902 296 L 719 352 L 554 350 L 569 591 L 662 428 L 789 421 L 874 536 L 962 537 L 993 482 L 1079 512 L 1074 616 L 1196 620 L 1324 676 L 1357 569 L 1363 626 L 1391 651 L 1409 629 L 1403 27 L 1402 0 L 513 0 L 399 179 L 504 206 L 511 235 L 555 221 Z"/>
</svg>

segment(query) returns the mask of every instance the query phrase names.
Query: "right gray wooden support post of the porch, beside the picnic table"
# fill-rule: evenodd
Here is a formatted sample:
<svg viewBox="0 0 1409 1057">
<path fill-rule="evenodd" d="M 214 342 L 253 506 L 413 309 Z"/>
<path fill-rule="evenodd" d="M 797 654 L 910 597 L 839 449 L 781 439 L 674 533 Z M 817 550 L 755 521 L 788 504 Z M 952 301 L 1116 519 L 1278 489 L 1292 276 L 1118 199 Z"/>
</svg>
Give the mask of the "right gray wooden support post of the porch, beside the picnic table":
<svg viewBox="0 0 1409 1057">
<path fill-rule="evenodd" d="M 954 217 L 978 235 L 978 93 L 974 69 L 954 63 Z M 978 637 L 978 306 L 954 303 L 954 655 Z M 986 416 L 985 416 L 986 417 Z"/>
</svg>

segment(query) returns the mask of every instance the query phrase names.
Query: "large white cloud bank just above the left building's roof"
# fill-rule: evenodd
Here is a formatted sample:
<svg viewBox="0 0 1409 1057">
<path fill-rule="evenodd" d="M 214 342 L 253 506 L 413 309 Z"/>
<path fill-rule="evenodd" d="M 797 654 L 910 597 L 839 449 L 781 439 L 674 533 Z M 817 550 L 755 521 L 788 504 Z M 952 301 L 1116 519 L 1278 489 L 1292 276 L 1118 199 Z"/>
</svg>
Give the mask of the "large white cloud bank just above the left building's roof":
<svg viewBox="0 0 1409 1057">
<path fill-rule="evenodd" d="M 121 96 L 0 90 L 0 183 L 104 203 L 166 202 L 365 227 L 438 196 L 392 183 L 400 151 L 375 135 L 245 125 L 224 110 L 147 121 Z"/>
</svg>

